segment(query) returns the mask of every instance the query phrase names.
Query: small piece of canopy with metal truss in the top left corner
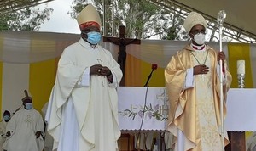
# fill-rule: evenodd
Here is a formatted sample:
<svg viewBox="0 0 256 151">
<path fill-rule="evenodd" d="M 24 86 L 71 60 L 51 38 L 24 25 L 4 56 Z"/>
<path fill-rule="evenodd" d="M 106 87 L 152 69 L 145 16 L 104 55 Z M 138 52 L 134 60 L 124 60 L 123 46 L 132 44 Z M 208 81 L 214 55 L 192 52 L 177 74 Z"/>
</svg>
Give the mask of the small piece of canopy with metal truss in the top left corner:
<svg viewBox="0 0 256 151">
<path fill-rule="evenodd" d="M 53 0 L 1 0 L 0 14 L 15 12 L 22 8 L 36 6 L 41 3 L 48 3 Z"/>
</svg>

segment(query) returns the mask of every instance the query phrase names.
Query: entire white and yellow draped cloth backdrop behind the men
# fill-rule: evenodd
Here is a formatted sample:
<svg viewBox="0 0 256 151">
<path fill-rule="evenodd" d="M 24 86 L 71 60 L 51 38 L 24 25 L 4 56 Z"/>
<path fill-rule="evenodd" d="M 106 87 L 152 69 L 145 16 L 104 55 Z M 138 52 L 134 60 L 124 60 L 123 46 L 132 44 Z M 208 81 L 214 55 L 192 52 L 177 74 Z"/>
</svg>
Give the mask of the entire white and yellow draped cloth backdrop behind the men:
<svg viewBox="0 0 256 151">
<path fill-rule="evenodd" d="M 79 35 L 49 32 L 0 32 L 0 106 L 1 113 L 14 112 L 20 107 L 24 90 L 28 90 L 36 109 L 41 110 L 49 99 L 55 81 L 57 62 L 64 48 L 78 41 Z M 164 68 L 177 50 L 188 42 L 143 40 L 141 45 L 128 45 L 125 67 L 125 86 L 143 87 L 151 71 L 158 64 L 150 87 L 164 87 Z M 117 59 L 119 47 L 101 43 Z M 219 49 L 218 42 L 208 43 Z M 246 87 L 255 87 L 256 46 L 254 44 L 223 43 L 224 53 L 233 75 L 232 87 L 237 87 L 236 60 L 246 60 Z"/>
</svg>

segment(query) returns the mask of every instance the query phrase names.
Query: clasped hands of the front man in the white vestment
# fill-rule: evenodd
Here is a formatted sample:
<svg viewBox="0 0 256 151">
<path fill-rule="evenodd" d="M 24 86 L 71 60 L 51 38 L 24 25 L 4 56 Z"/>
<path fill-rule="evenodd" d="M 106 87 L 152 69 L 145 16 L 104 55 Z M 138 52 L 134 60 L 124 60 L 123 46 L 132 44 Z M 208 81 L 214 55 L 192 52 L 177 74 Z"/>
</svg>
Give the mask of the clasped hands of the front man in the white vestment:
<svg viewBox="0 0 256 151">
<path fill-rule="evenodd" d="M 110 76 L 111 71 L 106 66 L 102 66 L 101 64 L 95 64 L 90 66 L 90 75 Z"/>
</svg>

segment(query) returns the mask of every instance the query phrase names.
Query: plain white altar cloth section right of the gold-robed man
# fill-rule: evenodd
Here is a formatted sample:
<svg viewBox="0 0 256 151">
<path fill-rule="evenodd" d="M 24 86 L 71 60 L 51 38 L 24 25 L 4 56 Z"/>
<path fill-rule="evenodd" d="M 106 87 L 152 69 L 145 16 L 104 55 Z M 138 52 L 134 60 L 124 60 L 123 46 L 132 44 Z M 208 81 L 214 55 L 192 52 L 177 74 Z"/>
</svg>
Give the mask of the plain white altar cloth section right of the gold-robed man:
<svg viewBox="0 0 256 151">
<path fill-rule="evenodd" d="M 230 89 L 224 126 L 228 131 L 256 131 L 256 89 Z"/>
</svg>

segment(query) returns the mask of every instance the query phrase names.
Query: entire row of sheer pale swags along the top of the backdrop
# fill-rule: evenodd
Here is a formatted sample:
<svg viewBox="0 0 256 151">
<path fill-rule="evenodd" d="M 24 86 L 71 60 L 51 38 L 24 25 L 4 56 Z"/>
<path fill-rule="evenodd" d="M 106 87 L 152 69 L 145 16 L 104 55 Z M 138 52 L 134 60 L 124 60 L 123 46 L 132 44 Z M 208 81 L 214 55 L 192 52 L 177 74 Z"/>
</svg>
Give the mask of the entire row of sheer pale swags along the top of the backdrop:
<svg viewBox="0 0 256 151">
<path fill-rule="evenodd" d="M 29 64 L 54 59 L 61 56 L 64 48 L 79 40 L 79 34 L 34 32 L 34 31 L 0 31 L 0 59 L 6 63 Z M 126 52 L 150 64 L 166 67 L 171 56 L 182 49 L 188 42 L 142 40 L 140 45 L 131 44 Z M 210 42 L 211 47 L 219 49 L 218 42 Z M 110 42 L 101 42 L 113 58 L 118 58 L 119 46 Z M 227 43 L 223 43 L 227 53 Z"/>
</svg>

